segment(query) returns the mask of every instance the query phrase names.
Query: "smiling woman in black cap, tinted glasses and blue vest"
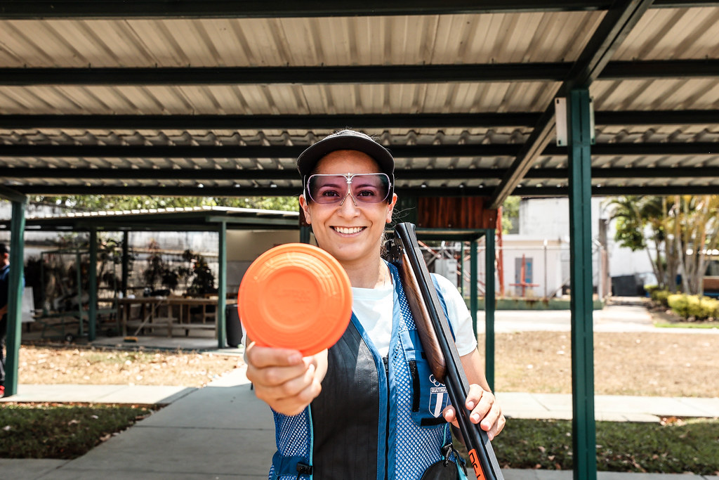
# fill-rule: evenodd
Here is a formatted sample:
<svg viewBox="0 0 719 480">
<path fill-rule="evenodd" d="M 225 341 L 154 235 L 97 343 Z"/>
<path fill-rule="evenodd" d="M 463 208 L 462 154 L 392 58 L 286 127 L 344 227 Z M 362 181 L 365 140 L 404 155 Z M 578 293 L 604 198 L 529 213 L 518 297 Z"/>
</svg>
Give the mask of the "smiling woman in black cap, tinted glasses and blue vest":
<svg viewBox="0 0 719 480">
<path fill-rule="evenodd" d="M 278 453 L 270 479 L 420 479 L 446 454 L 455 412 L 429 374 L 396 268 L 380 256 L 397 202 L 392 155 L 343 130 L 298 158 L 300 206 L 320 248 L 352 284 L 352 322 L 329 350 L 295 350 L 248 340 L 247 378 L 275 412 Z M 470 421 L 489 438 L 505 424 L 482 373 L 467 307 L 452 284 L 435 286 L 456 337 L 470 392 Z"/>
</svg>

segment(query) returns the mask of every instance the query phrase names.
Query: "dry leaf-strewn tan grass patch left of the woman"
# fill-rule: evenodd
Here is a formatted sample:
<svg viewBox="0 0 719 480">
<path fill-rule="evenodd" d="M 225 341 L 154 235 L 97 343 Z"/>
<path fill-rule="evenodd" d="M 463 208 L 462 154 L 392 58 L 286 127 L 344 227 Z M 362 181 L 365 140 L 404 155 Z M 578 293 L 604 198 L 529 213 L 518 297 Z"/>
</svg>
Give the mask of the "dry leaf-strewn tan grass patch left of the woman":
<svg viewBox="0 0 719 480">
<path fill-rule="evenodd" d="M 236 368 L 238 356 L 22 345 L 23 384 L 204 386 Z"/>
</svg>

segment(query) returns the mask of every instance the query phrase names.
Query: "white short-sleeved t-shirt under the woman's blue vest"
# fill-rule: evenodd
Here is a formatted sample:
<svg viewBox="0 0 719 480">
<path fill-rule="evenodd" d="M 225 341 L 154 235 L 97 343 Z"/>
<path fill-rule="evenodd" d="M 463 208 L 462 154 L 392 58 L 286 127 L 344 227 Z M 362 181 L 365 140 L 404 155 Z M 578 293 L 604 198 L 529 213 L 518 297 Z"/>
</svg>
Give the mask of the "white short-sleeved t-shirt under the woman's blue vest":
<svg viewBox="0 0 719 480">
<path fill-rule="evenodd" d="M 449 323 L 456 338 L 459 356 L 467 355 L 477 348 L 477 338 L 472 330 L 472 317 L 457 287 L 443 276 L 436 275 L 439 290 L 444 297 Z M 392 307 L 394 286 L 388 284 L 380 289 L 352 288 L 352 312 L 367 330 L 381 356 L 387 356 L 392 337 Z"/>
</svg>

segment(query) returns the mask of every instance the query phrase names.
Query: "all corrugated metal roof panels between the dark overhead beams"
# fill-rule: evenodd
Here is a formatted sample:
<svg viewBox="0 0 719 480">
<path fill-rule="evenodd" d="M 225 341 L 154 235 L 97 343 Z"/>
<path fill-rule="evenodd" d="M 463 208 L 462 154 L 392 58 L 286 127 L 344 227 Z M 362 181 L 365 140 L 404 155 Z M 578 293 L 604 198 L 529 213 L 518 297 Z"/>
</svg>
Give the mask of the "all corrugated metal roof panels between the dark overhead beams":
<svg viewBox="0 0 719 480">
<path fill-rule="evenodd" d="M 50 19 L 0 20 L 0 68 L 165 68 L 344 65 L 501 65 L 577 60 L 605 12 L 398 15 L 260 19 Z M 719 6 L 650 9 L 629 32 L 611 60 L 638 62 L 719 58 Z M 81 78 L 81 76 L 80 76 Z M 41 80 L 41 79 L 40 79 Z M 557 94 L 553 81 L 423 81 L 409 83 L 228 83 L 197 85 L 72 84 L 0 85 L 0 114 L 12 115 L 313 115 L 313 114 L 480 114 L 544 112 Z M 285 81 L 286 80 L 286 81 Z M 719 109 L 719 75 L 682 78 L 602 79 L 590 93 L 600 112 Z M 719 145 L 719 119 L 710 124 L 597 124 L 597 144 L 687 143 Z M 338 124 L 336 127 L 352 127 Z M 521 145 L 531 127 L 376 127 L 367 129 L 383 144 Z M 179 153 L 177 158 L 132 155 L 3 155 L 2 145 L 78 146 L 303 146 L 331 129 L 107 129 L 83 127 L 0 130 L 0 174 L 6 185 L 187 186 L 297 189 L 297 179 L 249 178 L 243 171 L 293 171 L 288 155 L 267 158 Z M 702 155 L 657 153 L 595 155 L 595 168 L 718 167 L 717 149 Z M 120 151 L 120 150 L 118 150 Z M 184 150 L 183 150 L 184 151 Z M 412 155 L 397 159 L 398 186 L 482 186 L 491 178 L 434 178 L 431 169 L 510 168 L 513 155 Z M 38 178 L 13 176 L 9 168 L 37 168 Z M 541 155 L 534 168 L 566 169 L 561 150 Z M 107 178 L 56 178 L 47 168 L 113 168 Z M 133 169 L 221 169 L 227 178 L 139 178 Z M 403 171 L 426 178 L 403 180 Z M 127 173 L 127 178 L 124 174 Z M 167 173 L 165 173 L 167 176 Z M 719 178 L 597 178 L 594 184 L 713 184 Z M 566 178 L 524 178 L 521 189 L 566 186 Z M 489 192 L 486 192 L 489 194 Z M 518 191 L 519 193 L 519 191 Z"/>
</svg>

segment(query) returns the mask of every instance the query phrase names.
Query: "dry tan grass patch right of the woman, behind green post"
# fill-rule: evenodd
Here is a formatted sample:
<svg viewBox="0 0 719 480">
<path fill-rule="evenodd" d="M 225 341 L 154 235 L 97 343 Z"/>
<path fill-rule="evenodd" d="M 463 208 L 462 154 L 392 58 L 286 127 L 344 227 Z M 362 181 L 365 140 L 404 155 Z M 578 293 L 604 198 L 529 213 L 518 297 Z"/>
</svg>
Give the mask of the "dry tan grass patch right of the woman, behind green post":
<svg viewBox="0 0 719 480">
<path fill-rule="evenodd" d="M 569 332 L 498 334 L 495 348 L 498 391 L 572 392 Z M 719 395 L 719 335 L 595 333 L 594 349 L 597 394 Z"/>
</svg>

